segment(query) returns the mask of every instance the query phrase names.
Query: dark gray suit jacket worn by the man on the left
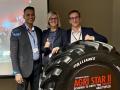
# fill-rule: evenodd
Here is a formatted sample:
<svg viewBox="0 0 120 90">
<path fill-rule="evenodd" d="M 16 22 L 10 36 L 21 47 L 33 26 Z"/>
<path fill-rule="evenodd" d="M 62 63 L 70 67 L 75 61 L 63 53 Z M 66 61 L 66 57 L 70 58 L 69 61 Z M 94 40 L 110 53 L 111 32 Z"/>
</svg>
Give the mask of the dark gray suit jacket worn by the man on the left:
<svg viewBox="0 0 120 90">
<path fill-rule="evenodd" d="M 40 63 L 42 63 L 42 31 L 36 26 L 35 31 L 38 38 Z M 28 77 L 33 70 L 33 54 L 29 36 L 24 24 L 12 30 L 10 38 L 10 52 L 14 73 L 20 73 L 23 77 Z M 42 70 L 42 65 L 40 68 Z"/>
</svg>

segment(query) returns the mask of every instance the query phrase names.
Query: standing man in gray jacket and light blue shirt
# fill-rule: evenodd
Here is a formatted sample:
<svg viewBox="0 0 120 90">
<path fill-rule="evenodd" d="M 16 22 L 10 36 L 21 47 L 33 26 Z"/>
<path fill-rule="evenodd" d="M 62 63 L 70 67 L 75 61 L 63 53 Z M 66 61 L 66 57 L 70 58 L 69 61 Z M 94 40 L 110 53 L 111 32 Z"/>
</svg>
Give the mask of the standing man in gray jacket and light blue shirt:
<svg viewBox="0 0 120 90">
<path fill-rule="evenodd" d="M 10 52 L 17 90 L 38 90 L 39 77 L 42 72 L 41 29 L 33 25 L 35 20 L 34 7 L 24 9 L 25 23 L 11 32 Z"/>
</svg>

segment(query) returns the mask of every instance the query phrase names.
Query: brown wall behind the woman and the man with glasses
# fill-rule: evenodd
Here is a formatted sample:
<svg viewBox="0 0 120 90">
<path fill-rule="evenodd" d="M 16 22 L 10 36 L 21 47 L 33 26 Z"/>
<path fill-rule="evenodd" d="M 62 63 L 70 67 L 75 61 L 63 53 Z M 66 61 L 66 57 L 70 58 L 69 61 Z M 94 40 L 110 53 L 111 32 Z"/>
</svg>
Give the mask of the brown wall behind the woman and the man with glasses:
<svg viewBox="0 0 120 90">
<path fill-rule="evenodd" d="M 120 52 L 120 0 L 49 0 L 49 10 L 57 11 L 62 26 L 68 28 L 67 13 L 78 9 L 83 26 L 91 26 L 106 36 L 109 43 Z"/>
</svg>

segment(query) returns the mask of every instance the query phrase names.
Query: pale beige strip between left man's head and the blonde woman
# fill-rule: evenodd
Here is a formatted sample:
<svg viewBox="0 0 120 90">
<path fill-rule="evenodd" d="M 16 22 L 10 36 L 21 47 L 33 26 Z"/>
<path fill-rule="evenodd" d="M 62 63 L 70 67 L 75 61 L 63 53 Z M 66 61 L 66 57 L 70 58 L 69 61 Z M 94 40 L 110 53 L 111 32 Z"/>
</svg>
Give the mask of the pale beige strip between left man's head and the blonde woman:
<svg viewBox="0 0 120 90">
<path fill-rule="evenodd" d="M 31 0 L 31 5 L 35 7 L 36 20 L 35 25 L 41 29 L 45 29 L 47 26 L 47 0 Z"/>
</svg>

